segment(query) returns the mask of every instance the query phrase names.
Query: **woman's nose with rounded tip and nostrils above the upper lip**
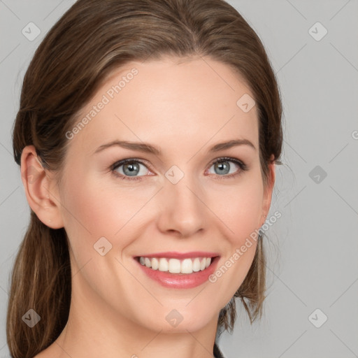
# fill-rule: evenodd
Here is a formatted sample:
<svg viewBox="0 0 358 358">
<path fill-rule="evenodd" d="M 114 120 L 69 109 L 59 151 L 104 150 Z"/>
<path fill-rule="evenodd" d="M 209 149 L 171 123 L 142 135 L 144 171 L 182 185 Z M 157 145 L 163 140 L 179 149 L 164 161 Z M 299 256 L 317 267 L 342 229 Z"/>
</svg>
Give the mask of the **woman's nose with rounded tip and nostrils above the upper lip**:
<svg viewBox="0 0 358 358">
<path fill-rule="evenodd" d="M 203 231 L 209 211 L 204 196 L 200 185 L 195 185 L 187 176 L 176 184 L 166 180 L 159 193 L 159 230 L 164 234 L 176 234 L 180 238 Z"/>
</svg>

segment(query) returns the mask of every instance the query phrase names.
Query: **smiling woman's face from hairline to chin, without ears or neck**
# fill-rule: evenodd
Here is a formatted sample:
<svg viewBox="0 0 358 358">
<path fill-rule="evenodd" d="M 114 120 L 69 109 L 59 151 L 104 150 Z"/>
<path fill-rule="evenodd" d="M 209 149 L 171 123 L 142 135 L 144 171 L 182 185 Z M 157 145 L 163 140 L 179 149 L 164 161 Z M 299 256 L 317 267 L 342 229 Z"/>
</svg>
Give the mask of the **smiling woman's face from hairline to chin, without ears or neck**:
<svg viewBox="0 0 358 358">
<path fill-rule="evenodd" d="M 58 187 L 73 304 L 157 331 L 216 323 L 256 242 L 237 250 L 271 201 L 256 107 L 236 104 L 250 89 L 212 59 L 177 62 L 111 73 L 67 134 Z"/>
</svg>

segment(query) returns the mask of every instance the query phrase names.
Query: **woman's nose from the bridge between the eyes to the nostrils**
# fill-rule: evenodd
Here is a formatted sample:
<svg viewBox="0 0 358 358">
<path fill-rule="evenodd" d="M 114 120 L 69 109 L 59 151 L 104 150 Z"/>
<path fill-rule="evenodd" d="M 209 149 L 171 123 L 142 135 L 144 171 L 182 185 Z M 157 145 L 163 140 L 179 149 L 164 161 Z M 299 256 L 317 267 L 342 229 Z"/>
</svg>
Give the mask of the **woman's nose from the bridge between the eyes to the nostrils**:
<svg viewBox="0 0 358 358">
<path fill-rule="evenodd" d="M 172 166 L 165 176 L 160 229 L 179 231 L 182 236 L 193 235 L 203 229 L 207 215 L 199 182 L 178 166 Z"/>
</svg>

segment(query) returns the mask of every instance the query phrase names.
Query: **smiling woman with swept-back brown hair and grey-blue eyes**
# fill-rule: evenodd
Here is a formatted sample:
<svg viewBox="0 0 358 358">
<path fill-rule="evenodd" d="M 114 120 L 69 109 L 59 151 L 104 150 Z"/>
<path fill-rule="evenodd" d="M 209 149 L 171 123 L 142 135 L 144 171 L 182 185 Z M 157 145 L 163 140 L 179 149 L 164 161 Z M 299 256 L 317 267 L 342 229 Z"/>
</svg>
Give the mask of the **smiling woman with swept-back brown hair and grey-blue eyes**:
<svg viewBox="0 0 358 358">
<path fill-rule="evenodd" d="M 262 314 L 281 114 L 228 3 L 77 1 L 36 50 L 13 131 L 31 207 L 13 357 L 222 357 L 234 298 Z"/>
</svg>

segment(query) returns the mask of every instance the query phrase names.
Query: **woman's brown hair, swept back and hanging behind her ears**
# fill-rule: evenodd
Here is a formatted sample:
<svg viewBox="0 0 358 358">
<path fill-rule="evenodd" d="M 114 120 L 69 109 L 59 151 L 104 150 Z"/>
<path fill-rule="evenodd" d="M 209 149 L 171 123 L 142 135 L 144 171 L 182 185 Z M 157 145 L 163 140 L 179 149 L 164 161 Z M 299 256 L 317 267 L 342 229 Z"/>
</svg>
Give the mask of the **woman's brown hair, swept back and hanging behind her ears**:
<svg viewBox="0 0 358 358">
<path fill-rule="evenodd" d="M 34 145 L 45 169 L 61 173 L 66 132 L 103 80 L 120 66 L 146 59 L 207 56 L 231 66 L 255 96 L 264 182 L 282 148 L 280 93 L 264 46 L 243 17 L 222 0 L 78 0 L 50 29 L 24 76 L 13 129 L 13 152 Z M 240 297 L 250 322 L 262 315 L 265 257 L 262 236 Z M 248 300 L 248 303 L 245 302 Z M 69 317 L 71 266 L 66 231 L 51 229 L 31 210 L 12 273 L 6 334 L 11 355 L 34 357 L 61 333 Z M 21 317 L 41 320 L 29 329 Z M 218 328 L 232 329 L 234 299 Z"/>
</svg>

